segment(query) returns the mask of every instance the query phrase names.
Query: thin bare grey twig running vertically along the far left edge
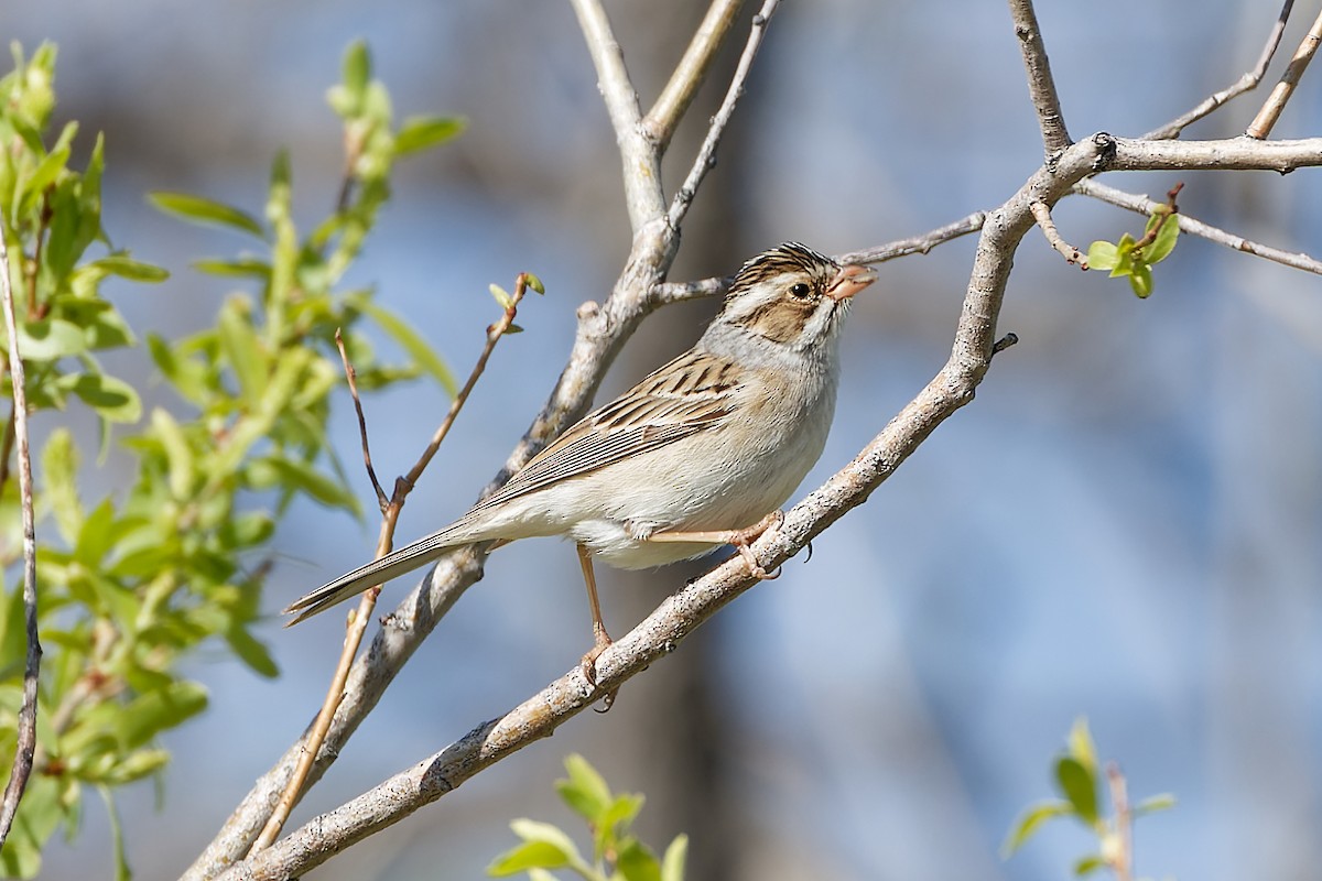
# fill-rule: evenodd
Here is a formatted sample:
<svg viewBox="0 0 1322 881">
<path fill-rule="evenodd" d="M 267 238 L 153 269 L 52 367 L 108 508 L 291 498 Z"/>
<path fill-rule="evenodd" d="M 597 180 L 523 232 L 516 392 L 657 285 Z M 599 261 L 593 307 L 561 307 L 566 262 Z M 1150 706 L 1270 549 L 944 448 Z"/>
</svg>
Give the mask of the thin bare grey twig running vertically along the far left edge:
<svg viewBox="0 0 1322 881">
<path fill-rule="evenodd" d="M 19 446 L 19 493 L 22 501 L 22 609 L 28 635 L 28 659 L 22 671 L 22 705 L 9 782 L 0 798 L 0 845 L 9 836 L 19 802 L 28 787 L 37 749 L 37 676 L 41 672 L 41 639 L 37 631 L 37 528 L 32 512 L 32 456 L 28 449 L 28 395 L 22 358 L 19 354 L 19 320 L 13 312 L 9 284 L 9 258 L 4 227 L 0 226 L 0 300 L 9 332 L 9 378 L 13 384 L 13 425 Z"/>
</svg>

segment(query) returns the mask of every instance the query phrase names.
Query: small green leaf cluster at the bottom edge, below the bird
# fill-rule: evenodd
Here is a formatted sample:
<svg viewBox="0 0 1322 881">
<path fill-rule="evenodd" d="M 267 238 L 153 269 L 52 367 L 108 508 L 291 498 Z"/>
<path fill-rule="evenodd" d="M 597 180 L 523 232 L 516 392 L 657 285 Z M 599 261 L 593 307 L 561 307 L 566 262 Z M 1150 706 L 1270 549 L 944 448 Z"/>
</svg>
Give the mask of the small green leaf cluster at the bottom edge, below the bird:
<svg viewBox="0 0 1322 881">
<path fill-rule="evenodd" d="M 676 836 L 658 860 L 631 831 L 642 810 L 642 795 L 611 793 L 596 769 L 578 754 L 564 759 L 564 770 L 568 778 L 557 781 L 555 789 L 570 810 L 587 822 L 591 860 L 559 827 L 520 819 L 510 828 L 522 843 L 496 857 L 486 868 L 488 874 L 527 872 L 529 881 L 553 881 L 555 870 L 568 869 L 587 881 L 682 881 L 687 836 Z"/>
</svg>

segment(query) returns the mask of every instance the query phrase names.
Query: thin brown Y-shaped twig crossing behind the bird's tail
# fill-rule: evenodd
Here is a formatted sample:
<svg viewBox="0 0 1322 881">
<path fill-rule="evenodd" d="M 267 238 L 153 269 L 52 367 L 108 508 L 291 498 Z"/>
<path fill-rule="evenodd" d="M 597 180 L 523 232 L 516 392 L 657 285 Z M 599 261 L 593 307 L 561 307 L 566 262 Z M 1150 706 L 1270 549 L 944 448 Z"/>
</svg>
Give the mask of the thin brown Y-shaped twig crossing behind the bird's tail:
<svg viewBox="0 0 1322 881">
<path fill-rule="evenodd" d="M 412 469 L 410 469 L 408 474 L 395 481 L 395 489 L 390 501 L 382 506 L 381 532 L 377 538 L 377 559 L 381 559 L 390 552 L 391 544 L 394 543 L 395 524 L 399 522 L 399 514 L 403 511 L 408 493 L 416 485 L 418 478 L 422 477 L 423 470 L 426 470 L 432 457 L 436 456 L 442 442 L 444 442 L 446 436 L 455 424 L 455 419 L 459 416 L 459 411 L 463 409 L 464 404 L 468 402 L 468 396 L 473 391 L 473 387 L 477 384 L 477 379 L 486 370 L 486 361 L 496 349 L 496 343 L 505 335 L 510 325 L 514 324 L 518 304 L 522 301 L 526 291 L 527 273 L 521 272 L 514 281 L 514 293 L 510 297 L 509 304 L 505 306 L 505 312 L 496 324 L 486 328 L 486 343 L 483 346 L 483 353 L 477 357 L 477 363 L 473 365 L 472 371 L 469 371 L 468 380 L 464 383 L 464 387 L 459 390 L 459 394 L 455 395 L 455 399 L 449 403 L 449 409 L 446 412 L 446 417 L 442 420 L 440 427 L 435 431 L 431 440 L 427 442 L 426 449 L 423 449 L 422 456 L 418 457 L 418 461 L 414 464 Z M 349 363 L 349 358 L 345 354 L 344 342 L 341 341 L 338 332 L 336 333 L 336 345 L 340 347 L 340 358 L 344 361 L 345 376 L 349 379 L 349 394 L 353 396 L 353 404 L 358 411 L 358 429 L 362 436 L 362 458 L 368 468 L 368 473 L 371 476 L 371 483 L 377 487 L 377 494 L 385 499 L 385 494 L 382 493 L 379 483 L 377 483 L 377 476 L 371 469 L 371 454 L 368 446 L 368 424 L 362 416 L 362 404 L 358 400 L 358 388 L 354 383 L 354 369 L 353 365 Z M 275 810 L 267 819 L 266 826 L 262 828 L 260 836 L 258 836 L 251 851 L 249 851 L 250 856 L 270 847 L 275 841 L 275 839 L 280 835 L 280 829 L 284 823 L 288 820 L 290 812 L 303 795 L 303 789 L 307 783 L 308 774 L 312 770 L 312 763 L 316 761 L 317 753 L 325 742 L 327 733 L 330 730 L 330 722 L 334 719 L 336 711 L 340 708 L 340 703 L 344 700 L 345 683 L 349 679 L 349 671 L 358 654 L 358 647 L 362 645 L 362 637 L 368 630 L 368 623 L 371 621 L 371 613 L 375 609 L 378 594 L 379 588 L 365 590 L 362 598 L 358 601 L 358 608 L 349 619 L 345 631 L 344 647 L 340 651 L 340 660 L 336 664 L 334 676 L 330 679 L 330 687 L 327 689 L 325 700 L 321 703 L 321 711 L 317 713 L 316 721 L 313 721 L 312 728 L 303 741 L 303 752 L 299 757 L 299 763 L 295 767 L 293 775 L 290 778 L 290 782 L 286 785 L 284 791 L 280 795 L 280 800 L 276 803 Z"/>
</svg>

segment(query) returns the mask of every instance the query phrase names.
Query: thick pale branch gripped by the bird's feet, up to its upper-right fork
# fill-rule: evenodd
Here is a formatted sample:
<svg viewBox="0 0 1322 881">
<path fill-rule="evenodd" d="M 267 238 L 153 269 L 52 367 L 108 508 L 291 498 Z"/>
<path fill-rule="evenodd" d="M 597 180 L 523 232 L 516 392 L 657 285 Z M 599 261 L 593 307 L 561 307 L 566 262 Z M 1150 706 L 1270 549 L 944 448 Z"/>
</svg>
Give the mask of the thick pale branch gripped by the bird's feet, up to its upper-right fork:
<svg viewBox="0 0 1322 881">
<path fill-rule="evenodd" d="M 780 528 L 752 549 L 773 569 L 828 528 L 888 478 L 947 417 L 973 399 L 995 350 L 995 321 L 1013 254 L 1032 226 L 1034 202 L 1055 203 L 1069 186 L 1093 173 L 1110 152 L 1109 139 L 1095 137 L 1068 148 L 1052 170 L 1039 169 L 982 226 L 969 288 L 951 358 L 941 371 L 843 469 L 785 515 Z M 446 557 L 442 565 L 448 565 Z M 451 791 L 483 767 L 545 737 L 591 705 L 595 693 L 617 688 L 756 581 L 732 559 L 678 590 L 619 639 L 598 660 L 598 692 L 576 668 L 551 683 L 496 722 L 480 725 L 449 749 L 386 781 L 353 802 L 317 818 L 288 837 L 234 866 L 225 878 L 272 878 L 299 874 L 366 835 L 398 822 Z"/>
</svg>

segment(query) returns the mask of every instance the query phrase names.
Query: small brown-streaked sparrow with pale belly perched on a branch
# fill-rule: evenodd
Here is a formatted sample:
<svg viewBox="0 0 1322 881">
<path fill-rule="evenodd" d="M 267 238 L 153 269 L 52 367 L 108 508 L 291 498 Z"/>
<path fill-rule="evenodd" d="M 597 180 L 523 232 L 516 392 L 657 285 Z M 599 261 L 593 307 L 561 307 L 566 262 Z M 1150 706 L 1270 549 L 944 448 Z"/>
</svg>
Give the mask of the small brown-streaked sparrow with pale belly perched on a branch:
<svg viewBox="0 0 1322 881">
<path fill-rule="evenodd" d="M 592 616 L 583 655 L 596 682 L 611 645 L 592 561 L 644 569 L 748 546 L 826 444 L 851 299 L 876 279 L 798 242 L 743 263 L 689 351 L 584 416 L 461 518 L 292 602 L 292 626 L 459 546 L 564 536 L 578 548 Z"/>
</svg>

